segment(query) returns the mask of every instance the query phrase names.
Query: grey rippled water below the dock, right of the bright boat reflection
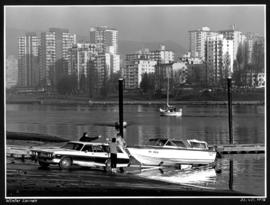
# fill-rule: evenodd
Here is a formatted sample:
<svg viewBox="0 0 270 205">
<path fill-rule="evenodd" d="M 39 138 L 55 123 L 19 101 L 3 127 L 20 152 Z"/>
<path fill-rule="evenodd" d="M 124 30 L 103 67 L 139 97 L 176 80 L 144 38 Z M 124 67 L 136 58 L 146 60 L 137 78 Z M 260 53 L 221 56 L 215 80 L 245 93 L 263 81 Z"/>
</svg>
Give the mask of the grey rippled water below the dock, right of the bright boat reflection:
<svg viewBox="0 0 270 205">
<path fill-rule="evenodd" d="M 215 187 L 224 189 L 226 185 L 234 191 L 263 196 L 266 183 L 264 161 L 264 154 L 224 155 L 217 161 L 222 172 L 217 175 Z"/>
</svg>

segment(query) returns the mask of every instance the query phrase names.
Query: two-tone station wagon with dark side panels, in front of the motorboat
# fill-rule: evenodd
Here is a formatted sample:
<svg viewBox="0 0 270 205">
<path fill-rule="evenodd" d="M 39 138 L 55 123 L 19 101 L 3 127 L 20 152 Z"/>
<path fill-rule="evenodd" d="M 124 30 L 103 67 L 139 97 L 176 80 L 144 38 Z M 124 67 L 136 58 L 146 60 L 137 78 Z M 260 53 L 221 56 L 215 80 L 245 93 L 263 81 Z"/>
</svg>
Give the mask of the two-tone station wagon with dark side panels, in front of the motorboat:
<svg viewBox="0 0 270 205">
<path fill-rule="evenodd" d="M 72 165 L 82 167 L 110 168 L 110 150 L 108 143 L 69 141 L 58 148 L 32 149 L 31 156 L 36 159 L 41 167 L 59 165 L 61 169 L 68 169 Z M 117 147 L 117 168 L 129 165 L 129 155 Z"/>
</svg>

